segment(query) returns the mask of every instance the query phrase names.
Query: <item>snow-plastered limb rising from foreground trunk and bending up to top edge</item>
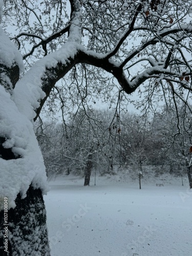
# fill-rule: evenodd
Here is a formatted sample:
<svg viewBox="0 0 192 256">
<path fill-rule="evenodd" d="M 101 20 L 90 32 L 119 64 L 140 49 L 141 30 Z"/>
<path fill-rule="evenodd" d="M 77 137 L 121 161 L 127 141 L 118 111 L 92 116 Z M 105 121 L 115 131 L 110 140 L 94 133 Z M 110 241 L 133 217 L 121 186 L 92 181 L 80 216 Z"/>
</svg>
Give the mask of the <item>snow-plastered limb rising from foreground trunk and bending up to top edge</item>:
<svg viewBox="0 0 192 256">
<path fill-rule="evenodd" d="M 74 61 L 75 56 L 79 49 L 83 49 L 80 45 L 80 15 L 80 6 L 76 1 L 73 5 L 68 41 L 56 52 L 37 61 L 17 83 L 13 92 L 14 101 L 20 112 L 25 113 L 30 120 L 37 117 L 36 113 L 39 113 L 55 82 L 77 62 Z"/>
</svg>

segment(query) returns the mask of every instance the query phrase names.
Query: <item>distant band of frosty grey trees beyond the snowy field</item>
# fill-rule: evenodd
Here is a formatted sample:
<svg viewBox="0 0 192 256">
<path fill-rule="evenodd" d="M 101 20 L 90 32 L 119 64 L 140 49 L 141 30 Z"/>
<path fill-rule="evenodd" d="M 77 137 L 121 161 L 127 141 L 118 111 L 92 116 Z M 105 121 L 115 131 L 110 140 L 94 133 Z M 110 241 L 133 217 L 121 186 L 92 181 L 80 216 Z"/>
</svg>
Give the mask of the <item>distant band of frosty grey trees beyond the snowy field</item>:
<svg viewBox="0 0 192 256">
<path fill-rule="evenodd" d="M 153 165 L 162 166 L 161 173 L 187 173 L 191 187 L 189 114 L 184 113 L 185 127 L 178 123 L 182 108 L 175 113 L 165 107 L 153 115 L 92 110 L 79 111 L 68 123 L 37 122 L 48 178 L 73 173 L 89 185 L 93 169 L 104 175 L 115 174 L 117 165 L 138 172 L 142 165 Z"/>
</svg>

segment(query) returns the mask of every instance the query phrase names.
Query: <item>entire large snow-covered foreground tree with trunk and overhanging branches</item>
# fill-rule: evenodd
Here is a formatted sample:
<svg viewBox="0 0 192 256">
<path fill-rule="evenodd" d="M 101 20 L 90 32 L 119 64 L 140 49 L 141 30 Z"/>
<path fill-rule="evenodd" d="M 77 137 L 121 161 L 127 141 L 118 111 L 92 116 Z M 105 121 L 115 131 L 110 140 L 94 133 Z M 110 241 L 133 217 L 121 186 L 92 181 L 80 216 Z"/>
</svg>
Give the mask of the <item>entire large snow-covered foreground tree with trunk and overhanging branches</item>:
<svg viewBox="0 0 192 256">
<path fill-rule="evenodd" d="M 111 92 L 120 105 L 137 88 L 143 105 L 180 98 L 189 108 L 192 2 L 15 0 L 2 7 L 0 0 L 0 6 L 1 224 L 8 198 L 9 254 L 49 255 L 45 166 L 33 121 L 46 100 L 50 112 L 59 102 L 65 116 L 102 96 L 113 103 Z M 1 230 L 1 254 L 3 242 Z"/>
</svg>

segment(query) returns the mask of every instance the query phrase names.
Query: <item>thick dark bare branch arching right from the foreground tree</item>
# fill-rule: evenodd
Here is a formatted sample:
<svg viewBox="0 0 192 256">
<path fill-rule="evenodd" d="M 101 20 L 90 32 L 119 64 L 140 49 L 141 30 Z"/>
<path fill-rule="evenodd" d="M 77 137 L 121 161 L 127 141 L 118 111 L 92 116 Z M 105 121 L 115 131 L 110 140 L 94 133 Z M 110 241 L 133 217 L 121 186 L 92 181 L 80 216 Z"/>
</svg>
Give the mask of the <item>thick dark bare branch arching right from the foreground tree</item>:
<svg viewBox="0 0 192 256">
<path fill-rule="evenodd" d="M 112 61 L 111 59 L 106 59 L 103 55 L 97 56 L 94 55 L 94 53 L 92 55 L 91 52 L 79 50 L 75 54 L 74 58 L 67 60 L 67 65 L 61 65 L 61 63 L 58 63 L 56 67 L 46 70 L 44 76 L 46 78 L 42 79 L 42 90 L 46 93 L 46 97 L 40 101 L 40 106 L 36 110 L 35 120 L 38 117 L 42 105 L 45 103 L 55 83 L 60 78 L 65 76 L 67 72 L 69 72 L 77 63 L 86 63 L 88 65 L 102 68 L 106 72 L 111 73 L 118 80 L 120 86 L 127 94 L 133 93 L 140 86 L 140 84 L 147 79 L 150 79 L 152 75 L 171 75 L 170 71 L 165 69 L 164 66 L 154 66 L 146 69 L 145 72 L 137 75 L 132 81 L 130 81 L 126 78 L 122 67 L 118 66 L 118 63 Z"/>
</svg>

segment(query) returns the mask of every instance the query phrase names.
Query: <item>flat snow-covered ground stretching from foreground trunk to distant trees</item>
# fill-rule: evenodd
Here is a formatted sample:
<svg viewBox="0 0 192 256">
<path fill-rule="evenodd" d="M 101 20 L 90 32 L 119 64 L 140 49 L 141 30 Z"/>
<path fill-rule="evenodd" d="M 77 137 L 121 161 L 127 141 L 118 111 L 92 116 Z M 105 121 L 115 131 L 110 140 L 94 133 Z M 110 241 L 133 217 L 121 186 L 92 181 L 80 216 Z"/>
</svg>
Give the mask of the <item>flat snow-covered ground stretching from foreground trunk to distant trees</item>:
<svg viewBox="0 0 192 256">
<path fill-rule="evenodd" d="M 158 180 L 157 180 L 158 181 Z M 52 256 L 191 256 L 192 191 L 117 177 L 59 177 L 44 197 Z"/>
</svg>

